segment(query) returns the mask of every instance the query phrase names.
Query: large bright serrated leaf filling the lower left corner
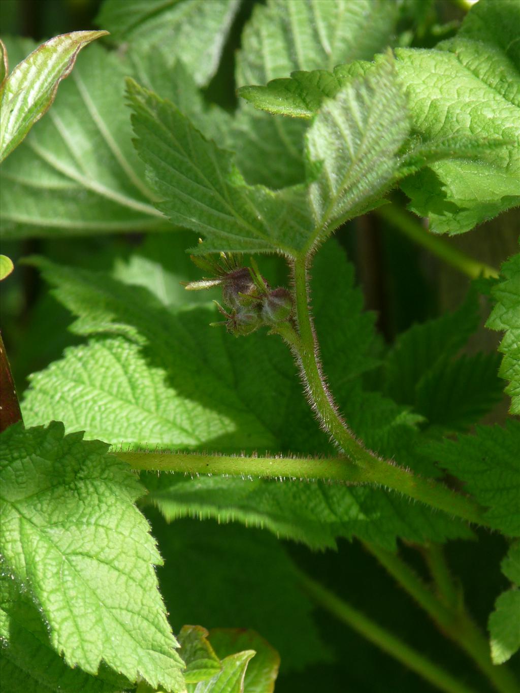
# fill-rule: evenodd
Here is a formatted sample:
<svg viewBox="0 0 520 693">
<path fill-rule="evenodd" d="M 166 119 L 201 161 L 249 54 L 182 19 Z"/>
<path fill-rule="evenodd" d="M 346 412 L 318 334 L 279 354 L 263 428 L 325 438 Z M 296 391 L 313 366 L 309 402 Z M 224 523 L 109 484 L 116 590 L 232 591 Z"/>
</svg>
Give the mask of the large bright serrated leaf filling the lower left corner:
<svg viewBox="0 0 520 693">
<path fill-rule="evenodd" d="M 104 660 L 130 681 L 180 691 L 153 568 L 161 558 L 132 505 L 142 486 L 106 444 L 82 438 L 56 422 L 3 433 L 2 554 L 67 664 L 96 674 Z"/>
</svg>

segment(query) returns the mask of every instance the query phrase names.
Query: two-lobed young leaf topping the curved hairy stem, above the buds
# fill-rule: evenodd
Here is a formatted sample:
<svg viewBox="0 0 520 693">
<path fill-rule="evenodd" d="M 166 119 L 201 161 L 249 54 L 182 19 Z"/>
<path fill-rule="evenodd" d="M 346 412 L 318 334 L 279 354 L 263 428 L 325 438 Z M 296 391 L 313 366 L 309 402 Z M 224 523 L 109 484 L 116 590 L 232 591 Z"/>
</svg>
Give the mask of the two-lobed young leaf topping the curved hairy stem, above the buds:
<svg viewBox="0 0 520 693">
<path fill-rule="evenodd" d="M 380 91 L 384 96 L 381 97 Z M 248 186 L 234 159 L 207 141 L 171 104 L 128 82 L 136 146 L 177 225 L 207 238 L 204 249 L 309 252 L 347 218 L 378 204 L 392 183 L 408 126 L 390 62 L 340 92 L 307 137 L 316 170 L 309 188 Z"/>
</svg>

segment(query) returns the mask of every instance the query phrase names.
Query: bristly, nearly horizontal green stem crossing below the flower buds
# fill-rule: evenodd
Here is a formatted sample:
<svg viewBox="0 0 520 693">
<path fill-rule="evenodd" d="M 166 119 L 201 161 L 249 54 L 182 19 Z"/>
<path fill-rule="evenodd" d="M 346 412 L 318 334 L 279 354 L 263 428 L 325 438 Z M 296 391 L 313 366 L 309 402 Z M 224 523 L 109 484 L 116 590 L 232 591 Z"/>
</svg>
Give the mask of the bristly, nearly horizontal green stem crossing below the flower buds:
<svg viewBox="0 0 520 693">
<path fill-rule="evenodd" d="M 366 451 L 365 451 L 366 452 Z M 184 474 L 224 474 L 259 479 L 305 479 L 377 484 L 399 491 L 426 505 L 479 525 L 487 525 L 485 510 L 474 500 L 433 480 L 414 476 L 401 467 L 370 457 L 370 464 L 352 464 L 345 457 L 241 457 L 200 453 L 134 453 L 112 450 L 132 469 Z M 367 453 L 370 456 L 370 453 Z M 375 464 L 372 464 L 375 460 Z"/>
</svg>

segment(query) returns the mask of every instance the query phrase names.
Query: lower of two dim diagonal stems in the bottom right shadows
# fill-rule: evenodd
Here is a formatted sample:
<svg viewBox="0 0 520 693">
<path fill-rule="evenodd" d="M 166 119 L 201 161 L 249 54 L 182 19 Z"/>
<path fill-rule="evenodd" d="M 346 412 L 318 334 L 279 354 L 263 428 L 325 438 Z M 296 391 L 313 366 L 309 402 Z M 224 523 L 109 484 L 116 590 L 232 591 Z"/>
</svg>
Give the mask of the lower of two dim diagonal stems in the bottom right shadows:
<svg viewBox="0 0 520 693">
<path fill-rule="evenodd" d="M 422 676 L 433 685 L 447 693 L 471 693 L 472 689 L 463 685 L 451 674 L 445 672 L 436 664 L 431 662 L 417 650 L 413 649 L 395 635 L 376 624 L 363 613 L 353 608 L 343 599 L 337 597 L 331 591 L 324 588 L 310 577 L 300 574 L 300 584 L 317 604 L 323 606 L 350 626 L 354 631 L 363 635 L 364 638 L 374 643 L 384 652 L 397 659 L 408 669 L 412 669 L 416 674 Z"/>
</svg>

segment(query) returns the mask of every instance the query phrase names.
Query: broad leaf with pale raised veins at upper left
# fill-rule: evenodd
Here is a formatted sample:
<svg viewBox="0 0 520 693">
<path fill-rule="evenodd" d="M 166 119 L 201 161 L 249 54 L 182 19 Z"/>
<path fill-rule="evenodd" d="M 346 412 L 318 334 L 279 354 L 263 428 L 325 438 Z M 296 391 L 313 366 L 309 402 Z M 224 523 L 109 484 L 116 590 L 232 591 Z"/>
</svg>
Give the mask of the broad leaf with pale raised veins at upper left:
<svg viewBox="0 0 520 693">
<path fill-rule="evenodd" d="M 20 53 L 30 46 L 17 40 L 9 49 Z M 169 227 L 151 204 L 155 198 L 132 146 L 123 95 L 130 70 L 101 46 L 79 56 L 47 117 L 2 164 L 5 238 Z"/>
</svg>

